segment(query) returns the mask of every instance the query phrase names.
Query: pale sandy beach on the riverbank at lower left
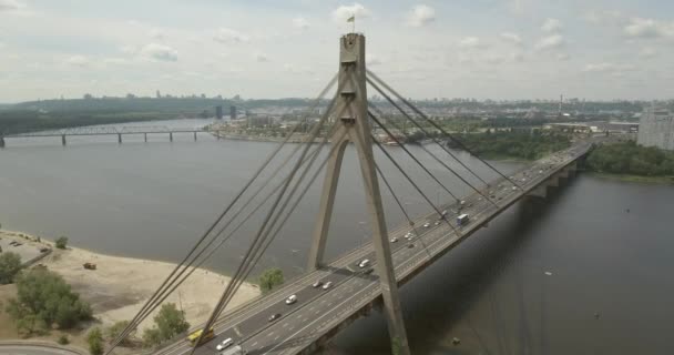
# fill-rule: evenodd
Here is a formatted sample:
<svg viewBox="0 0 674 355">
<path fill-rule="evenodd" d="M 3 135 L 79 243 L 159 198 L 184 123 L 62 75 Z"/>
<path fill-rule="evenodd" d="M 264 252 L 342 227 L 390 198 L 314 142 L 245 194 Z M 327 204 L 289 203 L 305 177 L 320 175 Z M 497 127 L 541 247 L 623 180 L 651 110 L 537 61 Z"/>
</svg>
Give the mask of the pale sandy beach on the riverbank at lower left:
<svg viewBox="0 0 674 355">
<path fill-rule="evenodd" d="M 51 242 L 37 242 L 37 237 L 20 232 L 0 231 L 0 237 L 53 247 Z M 67 250 L 53 247 L 53 252 L 38 263 L 63 276 L 91 304 L 94 316 L 103 326 L 133 318 L 175 267 L 172 263 L 111 256 L 71 246 Z M 85 270 L 84 263 L 96 264 L 96 270 Z M 228 280 L 211 271 L 197 270 L 165 302 L 182 307 L 190 324 L 196 325 L 208 317 Z M 243 284 L 228 307 L 258 295 L 256 285 Z M 152 324 L 150 316 L 141 324 L 139 334 Z"/>
</svg>

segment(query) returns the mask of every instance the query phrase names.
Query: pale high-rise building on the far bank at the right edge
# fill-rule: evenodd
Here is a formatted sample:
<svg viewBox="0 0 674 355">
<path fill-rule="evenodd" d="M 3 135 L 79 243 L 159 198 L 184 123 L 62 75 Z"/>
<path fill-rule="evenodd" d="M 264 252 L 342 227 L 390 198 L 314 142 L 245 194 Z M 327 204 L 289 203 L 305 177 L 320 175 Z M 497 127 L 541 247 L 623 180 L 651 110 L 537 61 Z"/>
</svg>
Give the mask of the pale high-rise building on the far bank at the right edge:
<svg viewBox="0 0 674 355">
<path fill-rule="evenodd" d="M 674 114 L 655 106 L 645 109 L 639 124 L 636 142 L 645 146 L 674 150 Z"/>
</svg>

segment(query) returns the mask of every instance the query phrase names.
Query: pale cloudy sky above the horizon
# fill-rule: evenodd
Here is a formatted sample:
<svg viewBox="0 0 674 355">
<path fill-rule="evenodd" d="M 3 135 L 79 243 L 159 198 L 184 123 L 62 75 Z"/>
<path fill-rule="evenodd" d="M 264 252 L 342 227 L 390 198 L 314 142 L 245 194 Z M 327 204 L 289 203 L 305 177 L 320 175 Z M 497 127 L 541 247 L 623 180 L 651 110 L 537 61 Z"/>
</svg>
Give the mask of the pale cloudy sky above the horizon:
<svg viewBox="0 0 674 355">
<path fill-rule="evenodd" d="M 351 14 L 406 97 L 674 98 L 671 0 L 0 0 L 0 102 L 313 98 Z"/>
</svg>

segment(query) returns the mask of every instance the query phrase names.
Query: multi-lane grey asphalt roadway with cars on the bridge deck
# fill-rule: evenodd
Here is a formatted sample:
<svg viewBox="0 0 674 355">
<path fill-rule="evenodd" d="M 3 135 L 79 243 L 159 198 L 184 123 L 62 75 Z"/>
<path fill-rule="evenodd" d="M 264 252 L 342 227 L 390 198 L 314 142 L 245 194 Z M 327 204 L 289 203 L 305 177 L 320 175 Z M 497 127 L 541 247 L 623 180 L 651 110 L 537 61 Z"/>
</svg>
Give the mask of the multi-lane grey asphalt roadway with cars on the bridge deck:
<svg viewBox="0 0 674 355">
<path fill-rule="evenodd" d="M 406 225 L 389 231 L 398 282 L 404 283 L 412 277 L 415 272 L 484 226 L 529 191 L 573 163 L 589 146 L 590 143 L 574 145 L 512 174 L 510 179 L 519 187 L 504 179 L 492 182 L 489 189 L 482 191 L 491 201 L 473 193 L 463 199 L 462 206 L 457 202 L 442 205 L 440 210 L 448 211 L 447 219 L 439 219 L 432 212 L 417 219 L 412 230 Z M 469 222 L 461 226 L 455 222 L 459 213 L 470 216 Z M 405 237 L 408 232 L 415 234 L 410 240 Z M 226 338 L 233 338 L 248 355 L 297 354 L 380 297 L 376 272 L 368 273 L 370 267 L 358 266 L 365 258 L 374 265 L 376 257 L 371 243 L 343 255 L 326 267 L 300 276 L 268 296 L 229 311 L 215 324 L 216 337 L 200 346 L 195 354 L 217 354 L 216 345 Z M 313 287 L 316 281 L 329 281 L 333 285 L 328 290 Z M 285 300 L 293 294 L 297 296 L 297 302 L 286 304 Z M 280 317 L 269 321 L 273 314 L 280 314 Z M 191 351 L 186 341 L 178 341 L 159 354 L 176 355 Z"/>
</svg>

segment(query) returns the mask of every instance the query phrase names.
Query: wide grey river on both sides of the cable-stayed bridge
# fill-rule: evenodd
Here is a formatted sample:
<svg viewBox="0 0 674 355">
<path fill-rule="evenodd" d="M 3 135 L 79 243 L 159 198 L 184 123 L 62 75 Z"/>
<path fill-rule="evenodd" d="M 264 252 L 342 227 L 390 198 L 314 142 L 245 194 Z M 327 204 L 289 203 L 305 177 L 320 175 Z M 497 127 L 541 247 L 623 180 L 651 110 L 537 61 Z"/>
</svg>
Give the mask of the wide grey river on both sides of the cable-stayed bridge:
<svg viewBox="0 0 674 355">
<path fill-rule="evenodd" d="M 205 133 L 197 142 L 191 134 L 175 134 L 173 142 L 165 134 L 149 140 L 124 136 L 118 144 L 116 136 L 69 138 L 61 146 L 59 138 L 7 139 L 0 150 L 2 227 L 52 239 L 67 235 L 71 244 L 102 253 L 176 262 L 276 146 Z M 449 199 L 401 149 L 388 150 L 433 203 Z M 420 149 L 410 150 L 451 191 L 469 192 Z M 457 154 L 482 176 L 494 178 L 477 160 Z M 405 207 L 411 214 L 427 212 L 426 202 L 386 158 L 377 152 L 376 159 Z M 494 164 L 504 172 L 522 166 Z M 328 258 L 364 243 L 369 234 L 359 179 L 349 146 Z M 319 175 L 254 273 L 269 266 L 282 267 L 287 277 L 300 272 L 321 183 Z M 400 225 L 402 214 L 381 189 L 387 223 Z M 674 277 L 668 274 L 674 270 L 668 223 L 674 189 L 581 173 L 560 191 L 544 203 L 515 204 L 401 288 L 415 354 L 674 353 L 668 339 L 674 320 Z M 259 220 L 247 223 L 207 266 L 232 272 Z M 452 345 L 453 337 L 461 343 Z M 386 323 L 375 314 L 335 343 L 348 354 L 386 354 Z"/>
</svg>

